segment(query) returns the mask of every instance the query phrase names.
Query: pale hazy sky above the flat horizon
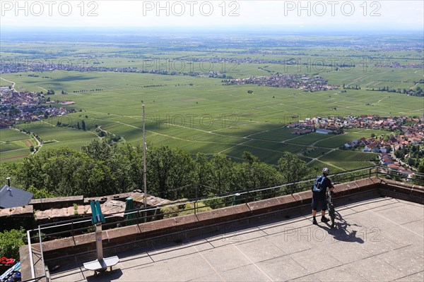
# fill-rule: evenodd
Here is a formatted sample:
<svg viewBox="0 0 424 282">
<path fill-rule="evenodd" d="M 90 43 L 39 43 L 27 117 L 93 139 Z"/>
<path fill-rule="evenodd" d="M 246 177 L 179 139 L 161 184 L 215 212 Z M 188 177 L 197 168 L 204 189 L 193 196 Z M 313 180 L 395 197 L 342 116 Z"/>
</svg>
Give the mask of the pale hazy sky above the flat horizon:
<svg viewBox="0 0 424 282">
<path fill-rule="evenodd" d="M 423 30 L 424 1 L 0 0 L 4 27 L 201 27 Z"/>
</svg>

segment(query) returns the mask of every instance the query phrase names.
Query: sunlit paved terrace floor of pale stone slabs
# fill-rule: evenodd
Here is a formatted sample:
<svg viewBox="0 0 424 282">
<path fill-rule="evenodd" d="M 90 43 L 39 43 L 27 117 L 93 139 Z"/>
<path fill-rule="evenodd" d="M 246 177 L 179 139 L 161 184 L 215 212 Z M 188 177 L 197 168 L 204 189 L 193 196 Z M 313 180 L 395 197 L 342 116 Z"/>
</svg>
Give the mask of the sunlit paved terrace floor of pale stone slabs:
<svg viewBox="0 0 424 282">
<path fill-rule="evenodd" d="M 336 207 L 334 229 L 309 214 L 117 254 L 112 273 L 82 262 L 53 281 L 424 281 L 424 206 L 389 197 Z M 319 217 L 318 217 L 319 219 Z"/>
</svg>

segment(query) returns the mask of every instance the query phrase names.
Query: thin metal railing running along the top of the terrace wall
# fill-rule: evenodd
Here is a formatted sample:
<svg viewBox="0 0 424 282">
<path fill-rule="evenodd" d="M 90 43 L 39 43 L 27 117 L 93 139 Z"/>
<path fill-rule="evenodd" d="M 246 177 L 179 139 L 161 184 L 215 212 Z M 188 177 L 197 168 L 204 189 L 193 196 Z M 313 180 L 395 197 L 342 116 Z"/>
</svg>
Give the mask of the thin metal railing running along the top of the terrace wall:
<svg viewBox="0 0 424 282">
<path fill-rule="evenodd" d="M 395 180 L 399 178 L 399 180 L 411 180 L 408 176 L 405 175 L 402 171 L 396 171 L 391 168 L 385 166 L 368 166 L 365 168 L 353 169 L 350 171 L 343 171 L 339 173 L 334 173 L 329 176 L 329 178 L 335 183 L 343 183 L 349 182 L 353 180 L 359 180 L 363 178 L 371 178 L 372 176 L 376 176 L 377 178 L 394 178 Z M 416 178 L 414 179 L 420 185 L 424 185 L 424 174 L 416 173 Z M 273 185 L 268 187 L 260 187 L 260 188 L 251 188 L 246 190 L 235 190 L 232 192 L 225 192 L 216 195 L 210 195 L 205 197 L 196 197 L 190 200 L 179 200 L 175 202 L 171 202 L 170 204 L 161 204 L 155 207 L 141 207 L 139 209 L 132 209 L 125 212 L 116 212 L 113 214 L 109 214 L 105 216 L 105 219 L 116 219 L 117 217 L 123 217 L 123 215 L 135 214 L 136 218 L 124 219 L 113 221 L 111 223 L 103 223 L 102 226 L 104 229 L 107 228 L 115 228 L 118 226 L 122 226 L 122 224 L 126 224 L 130 222 L 132 224 L 135 223 L 143 223 L 146 221 L 154 221 L 156 219 L 163 219 L 166 216 L 175 216 L 175 214 L 187 214 L 194 213 L 196 214 L 199 209 L 205 208 L 216 208 L 216 207 L 227 207 L 231 204 L 234 204 L 235 201 L 238 203 L 247 203 L 254 202 L 257 200 L 269 199 L 272 197 L 278 197 L 281 195 L 290 195 L 295 192 L 302 192 L 305 190 L 309 190 L 316 178 L 308 178 L 303 180 L 295 180 L 290 183 L 284 183 L 281 185 Z M 202 204 L 199 207 L 199 204 Z M 184 205 L 184 209 L 177 209 L 176 211 L 166 212 L 166 209 L 170 209 L 172 207 L 181 207 Z M 191 207 L 190 207 L 191 206 Z M 134 223 L 135 222 L 135 223 Z M 61 228 L 64 230 L 49 232 L 54 228 Z M 91 217 L 86 216 L 81 219 L 71 219 L 67 221 L 60 221 L 55 223 L 46 223 L 40 224 L 37 229 L 33 229 L 27 231 L 28 235 L 28 247 L 30 250 L 30 259 L 32 262 L 32 240 L 37 240 L 37 243 L 40 243 L 40 252 L 42 254 L 42 263 L 45 269 L 45 262 L 42 251 L 42 241 L 46 241 L 53 238 L 65 238 L 73 235 L 77 235 L 78 233 L 90 233 L 93 232 L 90 229 L 93 228 L 91 225 Z M 30 237 L 31 232 L 37 232 L 37 235 L 34 237 Z M 35 278 L 35 273 L 32 269 L 33 278 Z M 45 271 L 46 276 L 46 271 Z"/>
</svg>

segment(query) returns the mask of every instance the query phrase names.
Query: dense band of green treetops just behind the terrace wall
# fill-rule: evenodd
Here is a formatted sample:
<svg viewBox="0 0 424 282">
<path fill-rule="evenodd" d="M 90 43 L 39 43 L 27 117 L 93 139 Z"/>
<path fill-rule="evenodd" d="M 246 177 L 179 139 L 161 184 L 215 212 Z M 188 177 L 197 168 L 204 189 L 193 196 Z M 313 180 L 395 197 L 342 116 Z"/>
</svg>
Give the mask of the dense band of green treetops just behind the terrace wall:
<svg viewBox="0 0 424 282">
<path fill-rule="evenodd" d="M 148 147 L 148 194 L 168 200 L 266 187 L 314 176 L 295 154 L 284 152 L 278 166 L 260 161 L 250 152 L 236 162 L 224 154 L 194 157 L 182 149 Z M 0 164 L 1 179 L 35 197 L 84 195 L 96 197 L 143 190 L 143 148 L 129 143 L 95 139 L 81 147 L 46 149 L 18 164 Z"/>
</svg>

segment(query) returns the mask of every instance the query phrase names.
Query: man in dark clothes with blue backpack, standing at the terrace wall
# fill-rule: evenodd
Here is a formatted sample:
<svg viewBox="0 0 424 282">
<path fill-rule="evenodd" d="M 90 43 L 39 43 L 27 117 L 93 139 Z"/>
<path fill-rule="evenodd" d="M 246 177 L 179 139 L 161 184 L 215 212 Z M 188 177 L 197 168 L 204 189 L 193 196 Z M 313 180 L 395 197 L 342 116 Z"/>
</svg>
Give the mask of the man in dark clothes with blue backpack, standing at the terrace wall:
<svg viewBox="0 0 424 282">
<path fill-rule="evenodd" d="M 315 180 L 314 187 L 312 188 L 312 223 L 318 224 L 317 219 L 317 208 L 321 208 L 321 221 L 327 222 L 329 219 L 325 217 L 325 211 L 327 207 L 326 202 L 326 190 L 329 188 L 330 191 L 333 191 L 334 185 L 331 183 L 331 180 L 327 178 L 329 176 L 329 168 L 322 168 L 322 176 L 318 176 Z"/>
</svg>

